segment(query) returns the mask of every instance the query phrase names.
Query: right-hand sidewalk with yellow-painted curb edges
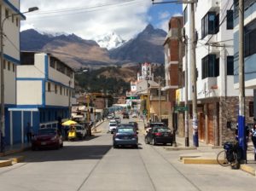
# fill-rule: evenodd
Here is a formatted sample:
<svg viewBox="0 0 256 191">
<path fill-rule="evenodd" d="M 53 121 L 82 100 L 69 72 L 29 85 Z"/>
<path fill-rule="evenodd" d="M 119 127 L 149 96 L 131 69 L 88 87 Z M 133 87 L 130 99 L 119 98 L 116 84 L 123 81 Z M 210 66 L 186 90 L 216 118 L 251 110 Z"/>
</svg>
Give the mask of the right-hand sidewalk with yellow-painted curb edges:
<svg viewBox="0 0 256 191">
<path fill-rule="evenodd" d="M 185 153 L 180 155 L 180 160 L 183 164 L 199 164 L 199 165 L 218 165 L 217 155 L 223 150 L 222 146 L 216 147 L 199 142 L 199 147 L 193 147 L 193 142 L 190 140 L 189 148 L 185 147 L 183 137 L 176 136 L 177 147 L 165 147 L 166 150 L 196 150 L 195 152 Z M 241 170 L 246 171 L 253 176 L 256 176 L 256 161 L 254 161 L 253 143 L 249 142 L 247 150 L 247 164 L 241 165 Z"/>
</svg>

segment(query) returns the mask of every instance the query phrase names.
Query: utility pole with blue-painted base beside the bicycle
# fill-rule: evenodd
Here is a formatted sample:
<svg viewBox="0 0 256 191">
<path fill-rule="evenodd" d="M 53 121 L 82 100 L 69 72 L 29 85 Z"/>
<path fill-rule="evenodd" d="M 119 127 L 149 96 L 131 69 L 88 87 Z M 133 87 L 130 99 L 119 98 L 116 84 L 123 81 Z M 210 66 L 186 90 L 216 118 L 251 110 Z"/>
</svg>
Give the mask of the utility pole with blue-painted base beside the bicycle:
<svg viewBox="0 0 256 191">
<path fill-rule="evenodd" d="M 242 160 L 247 161 L 245 130 L 245 84 L 244 84 L 244 0 L 239 0 L 239 117 L 238 138 L 242 149 Z"/>
</svg>

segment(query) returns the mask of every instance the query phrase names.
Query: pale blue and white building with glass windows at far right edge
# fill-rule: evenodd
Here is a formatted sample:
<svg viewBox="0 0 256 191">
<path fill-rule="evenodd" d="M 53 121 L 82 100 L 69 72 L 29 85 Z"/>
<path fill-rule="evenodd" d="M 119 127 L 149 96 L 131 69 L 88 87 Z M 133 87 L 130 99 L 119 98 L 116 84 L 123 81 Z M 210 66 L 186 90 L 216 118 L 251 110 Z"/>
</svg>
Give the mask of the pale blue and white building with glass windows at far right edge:
<svg viewBox="0 0 256 191">
<path fill-rule="evenodd" d="M 234 1 L 235 4 L 235 18 L 234 18 L 234 77 L 235 87 L 239 86 L 239 67 L 238 67 L 238 51 L 239 51 L 239 18 L 238 18 L 238 1 Z M 253 113 L 256 119 L 256 2 L 255 0 L 244 1 L 244 35 L 245 35 L 245 51 L 244 51 L 244 67 L 245 67 L 245 88 L 253 89 L 253 101 L 249 104 L 253 109 L 250 113 Z"/>
</svg>

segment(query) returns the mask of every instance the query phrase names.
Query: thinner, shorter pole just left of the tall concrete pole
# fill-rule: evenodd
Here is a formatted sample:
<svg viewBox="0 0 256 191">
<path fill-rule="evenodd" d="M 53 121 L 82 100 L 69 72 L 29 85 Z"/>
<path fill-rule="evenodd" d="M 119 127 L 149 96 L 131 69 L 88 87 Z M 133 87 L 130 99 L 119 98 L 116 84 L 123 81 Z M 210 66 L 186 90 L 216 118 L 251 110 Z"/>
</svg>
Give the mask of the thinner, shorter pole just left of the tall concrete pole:
<svg viewBox="0 0 256 191">
<path fill-rule="evenodd" d="M 188 36 L 183 32 L 185 43 L 185 107 L 188 107 Z M 185 110 L 185 147 L 189 147 L 189 111 Z"/>
</svg>

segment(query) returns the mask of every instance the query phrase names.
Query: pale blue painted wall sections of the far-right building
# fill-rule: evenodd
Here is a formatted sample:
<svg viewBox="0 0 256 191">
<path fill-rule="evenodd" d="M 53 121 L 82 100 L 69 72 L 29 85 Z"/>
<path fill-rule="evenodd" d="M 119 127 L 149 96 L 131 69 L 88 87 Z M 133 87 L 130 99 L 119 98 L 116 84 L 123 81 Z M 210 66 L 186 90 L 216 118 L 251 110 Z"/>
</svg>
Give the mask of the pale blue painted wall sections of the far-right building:
<svg viewBox="0 0 256 191">
<path fill-rule="evenodd" d="M 244 16 L 245 20 L 250 18 L 253 13 L 256 12 L 256 3 L 253 3 L 250 7 L 245 10 Z M 255 18 L 256 19 L 256 18 Z M 234 26 L 238 26 L 238 17 L 234 20 Z M 234 82 L 237 84 L 239 82 L 239 59 L 238 59 L 238 49 L 239 49 L 239 32 L 234 32 Z M 245 81 L 256 79 L 256 54 L 245 57 L 244 60 L 245 69 Z M 255 84 L 256 85 L 256 84 Z"/>
</svg>

